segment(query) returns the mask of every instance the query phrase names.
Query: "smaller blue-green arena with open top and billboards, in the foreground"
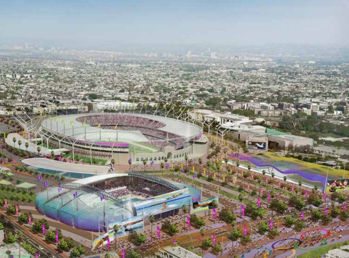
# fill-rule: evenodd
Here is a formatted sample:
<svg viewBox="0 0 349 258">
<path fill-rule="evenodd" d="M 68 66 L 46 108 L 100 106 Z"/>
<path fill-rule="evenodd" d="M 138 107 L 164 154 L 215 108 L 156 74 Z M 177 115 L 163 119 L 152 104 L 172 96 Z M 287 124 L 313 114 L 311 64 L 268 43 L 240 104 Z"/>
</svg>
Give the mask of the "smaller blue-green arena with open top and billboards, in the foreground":
<svg viewBox="0 0 349 258">
<path fill-rule="evenodd" d="M 191 207 L 191 212 L 193 206 L 202 209 L 200 198 L 199 190 L 185 184 L 127 172 L 49 187 L 37 195 L 35 205 L 40 213 L 83 230 L 114 234 L 117 224 L 116 236 L 123 236 L 142 230 L 150 214 L 165 218 L 177 214 L 183 205 Z"/>
</svg>

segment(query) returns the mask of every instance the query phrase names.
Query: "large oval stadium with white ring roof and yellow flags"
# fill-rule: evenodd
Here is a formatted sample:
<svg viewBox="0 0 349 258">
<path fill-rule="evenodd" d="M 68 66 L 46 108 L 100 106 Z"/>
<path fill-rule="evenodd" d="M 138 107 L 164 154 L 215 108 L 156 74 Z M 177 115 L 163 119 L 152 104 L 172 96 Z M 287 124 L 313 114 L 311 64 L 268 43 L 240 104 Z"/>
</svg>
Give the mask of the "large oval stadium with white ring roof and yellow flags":
<svg viewBox="0 0 349 258">
<path fill-rule="evenodd" d="M 47 146 L 75 156 L 115 161 L 115 164 L 183 161 L 207 154 L 202 129 L 185 121 L 136 113 L 75 114 L 45 118 L 39 136 Z"/>
</svg>

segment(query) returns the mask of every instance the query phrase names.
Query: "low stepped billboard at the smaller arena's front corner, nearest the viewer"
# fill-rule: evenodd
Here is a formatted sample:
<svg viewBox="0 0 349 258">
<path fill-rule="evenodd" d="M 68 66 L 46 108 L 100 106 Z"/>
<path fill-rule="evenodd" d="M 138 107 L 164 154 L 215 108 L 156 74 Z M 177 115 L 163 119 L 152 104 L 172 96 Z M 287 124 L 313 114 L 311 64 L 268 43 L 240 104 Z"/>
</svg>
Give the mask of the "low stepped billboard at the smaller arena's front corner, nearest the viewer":
<svg viewBox="0 0 349 258">
<path fill-rule="evenodd" d="M 118 225 L 118 231 L 114 232 L 114 225 Z M 144 227 L 143 216 L 135 216 L 117 222 L 108 223 L 108 233 L 96 238 L 92 244 L 92 249 L 100 248 L 108 243 L 107 239 L 112 242 L 117 237 L 128 235 L 130 231 L 141 231 Z"/>
</svg>

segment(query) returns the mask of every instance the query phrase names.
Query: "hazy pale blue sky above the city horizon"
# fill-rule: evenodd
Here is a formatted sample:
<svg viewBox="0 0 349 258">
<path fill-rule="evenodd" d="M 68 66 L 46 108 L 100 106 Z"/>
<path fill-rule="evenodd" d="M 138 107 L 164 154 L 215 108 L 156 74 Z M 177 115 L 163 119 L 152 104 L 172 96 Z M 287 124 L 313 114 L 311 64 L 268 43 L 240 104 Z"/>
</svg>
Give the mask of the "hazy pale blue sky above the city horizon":
<svg viewBox="0 0 349 258">
<path fill-rule="evenodd" d="M 0 0 L 0 44 L 349 45 L 349 0 Z"/>
</svg>

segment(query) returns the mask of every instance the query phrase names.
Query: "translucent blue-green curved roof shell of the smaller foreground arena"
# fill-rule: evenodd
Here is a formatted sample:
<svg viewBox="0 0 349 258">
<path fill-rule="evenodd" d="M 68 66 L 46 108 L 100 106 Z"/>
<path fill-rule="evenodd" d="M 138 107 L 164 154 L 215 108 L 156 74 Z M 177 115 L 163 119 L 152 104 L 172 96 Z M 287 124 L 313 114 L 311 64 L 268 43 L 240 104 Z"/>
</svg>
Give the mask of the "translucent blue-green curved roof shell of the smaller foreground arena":
<svg viewBox="0 0 349 258">
<path fill-rule="evenodd" d="M 58 187 L 49 187 L 45 191 L 37 194 L 35 205 L 40 213 L 52 219 L 59 220 L 62 223 L 76 228 L 99 231 L 104 219 L 108 224 L 109 222 L 124 221 L 125 219 L 139 215 L 138 213 L 135 214 L 136 210 L 133 204 L 134 202 L 139 202 L 139 200 L 133 197 L 131 197 L 131 199 L 115 199 L 115 197 L 110 197 L 106 191 L 94 187 L 95 184 L 102 183 L 112 178 L 124 178 L 121 179 L 124 182 L 124 180 L 126 180 L 125 177 L 129 177 L 129 179 L 136 177 L 151 181 L 172 190 L 172 192 L 169 191 L 167 192 L 168 194 L 158 195 L 158 197 L 166 195 L 165 198 L 181 199 L 176 196 L 180 195 L 178 194 L 179 192 L 185 191 L 183 193 L 190 194 L 188 195 L 189 199 L 183 199 L 183 201 L 187 201 L 185 204 L 190 205 L 190 199 L 193 202 L 199 201 L 200 199 L 199 190 L 185 184 L 142 173 L 126 172 L 104 174 L 76 180 L 72 183 L 61 184 L 61 189 Z M 75 193 L 77 193 L 76 197 L 74 197 Z M 104 201 L 101 201 L 100 198 L 102 194 L 105 194 Z M 154 200 L 156 205 L 161 205 L 161 200 L 157 203 L 156 199 L 156 196 L 151 197 L 149 201 L 152 202 Z M 178 207 L 181 206 L 182 203 L 180 203 Z"/>
</svg>

